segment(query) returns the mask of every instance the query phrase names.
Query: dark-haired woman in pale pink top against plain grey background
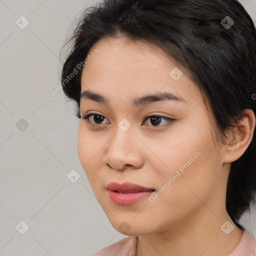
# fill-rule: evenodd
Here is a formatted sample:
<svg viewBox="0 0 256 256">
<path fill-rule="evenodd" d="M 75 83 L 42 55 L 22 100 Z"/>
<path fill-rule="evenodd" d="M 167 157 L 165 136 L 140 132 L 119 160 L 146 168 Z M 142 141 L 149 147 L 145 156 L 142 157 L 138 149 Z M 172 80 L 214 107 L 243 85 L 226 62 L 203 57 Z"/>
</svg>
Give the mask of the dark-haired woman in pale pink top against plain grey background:
<svg viewBox="0 0 256 256">
<path fill-rule="evenodd" d="M 256 29 L 236 0 L 104 0 L 67 45 L 77 150 L 112 226 L 91 255 L 254 255 Z"/>
</svg>

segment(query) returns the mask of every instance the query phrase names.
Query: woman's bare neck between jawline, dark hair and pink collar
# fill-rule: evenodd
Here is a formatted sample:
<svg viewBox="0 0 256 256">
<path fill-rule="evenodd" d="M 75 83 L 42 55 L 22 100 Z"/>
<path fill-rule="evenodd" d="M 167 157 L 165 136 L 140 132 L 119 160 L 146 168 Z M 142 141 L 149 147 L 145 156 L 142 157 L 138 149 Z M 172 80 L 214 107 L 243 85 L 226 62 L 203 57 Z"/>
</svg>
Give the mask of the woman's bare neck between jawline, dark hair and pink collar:
<svg viewBox="0 0 256 256">
<path fill-rule="evenodd" d="M 229 167 L 228 164 L 224 165 L 226 170 Z M 138 235 L 135 256 L 230 254 L 240 242 L 243 230 L 233 223 L 226 211 L 224 195 L 228 171 L 223 171 L 222 175 L 222 183 L 212 193 L 214 196 L 201 203 L 189 215 L 172 220 L 171 223 L 164 223 L 154 232 Z M 222 226 L 226 221 L 230 224 Z M 226 234 L 224 231 L 230 230 L 230 226 L 234 228 Z"/>
</svg>

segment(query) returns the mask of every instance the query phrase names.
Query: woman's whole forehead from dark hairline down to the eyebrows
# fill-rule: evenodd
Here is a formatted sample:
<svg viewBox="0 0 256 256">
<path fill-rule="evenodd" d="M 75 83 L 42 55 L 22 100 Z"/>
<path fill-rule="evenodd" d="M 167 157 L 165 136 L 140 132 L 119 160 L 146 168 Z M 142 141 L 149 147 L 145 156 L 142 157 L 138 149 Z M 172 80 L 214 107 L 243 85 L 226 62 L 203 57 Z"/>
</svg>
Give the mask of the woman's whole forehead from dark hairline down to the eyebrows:
<svg viewBox="0 0 256 256">
<path fill-rule="evenodd" d="M 95 49 L 98 53 L 91 54 Z M 111 100 L 117 92 L 122 99 L 167 91 L 187 102 L 201 100 L 186 70 L 154 44 L 107 37 L 93 44 L 87 56 L 90 60 L 82 70 L 81 92 L 91 89 Z"/>
</svg>

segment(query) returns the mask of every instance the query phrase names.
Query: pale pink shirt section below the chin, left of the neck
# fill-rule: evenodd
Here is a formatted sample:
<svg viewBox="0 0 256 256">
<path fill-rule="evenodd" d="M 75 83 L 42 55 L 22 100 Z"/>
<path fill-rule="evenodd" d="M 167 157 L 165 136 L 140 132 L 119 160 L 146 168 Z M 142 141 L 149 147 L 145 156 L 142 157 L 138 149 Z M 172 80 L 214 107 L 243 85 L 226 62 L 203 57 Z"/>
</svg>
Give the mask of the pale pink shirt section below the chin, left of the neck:
<svg viewBox="0 0 256 256">
<path fill-rule="evenodd" d="M 135 256 L 136 236 L 125 237 L 87 256 Z"/>
</svg>

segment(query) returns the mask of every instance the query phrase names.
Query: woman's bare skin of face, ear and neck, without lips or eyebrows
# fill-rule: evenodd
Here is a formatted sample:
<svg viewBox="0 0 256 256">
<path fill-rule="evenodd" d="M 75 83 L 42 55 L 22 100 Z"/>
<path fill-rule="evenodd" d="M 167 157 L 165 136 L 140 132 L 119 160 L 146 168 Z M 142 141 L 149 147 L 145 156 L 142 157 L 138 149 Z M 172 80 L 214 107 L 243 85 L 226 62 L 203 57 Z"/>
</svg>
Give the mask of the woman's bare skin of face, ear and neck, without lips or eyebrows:
<svg viewBox="0 0 256 256">
<path fill-rule="evenodd" d="M 118 226 L 124 220 L 128 223 L 130 229 L 123 234 L 138 236 L 136 256 L 228 255 L 243 231 L 226 212 L 227 177 L 230 162 L 239 158 L 251 141 L 253 111 L 244 111 L 237 127 L 227 133 L 225 145 L 218 146 L 216 141 L 214 145 L 215 122 L 207 115 L 197 85 L 160 48 L 124 37 L 101 39 L 88 54 L 95 48 L 99 52 L 82 70 L 81 92 L 100 93 L 109 99 L 109 106 L 81 100 L 80 115 L 96 112 L 105 118 L 98 123 L 96 116 L 89 118 L 90 123 L 80 120 L 77 151 L 112 226 L 123 233 Z M 169 75 L 173 67 L 183 72 L 176 81 Z M 131 106 L 132 99 L 158 91 L 175 93 L 186 102 Z M 168 125 L 161 118 L 157 126 L 145 119 L 148 114 L 174 121 Z M 131 123 L 127 131 L 118 127 L 123 118 Z M 155 201 L 144 198 L 120 206 L 109 198 L 106 185 L 110 181 L 160 189 L 197 151 L 200 156 Z M 225 221 L 234 227 L 229 234 L 220 228 Z"/>
</svg>

